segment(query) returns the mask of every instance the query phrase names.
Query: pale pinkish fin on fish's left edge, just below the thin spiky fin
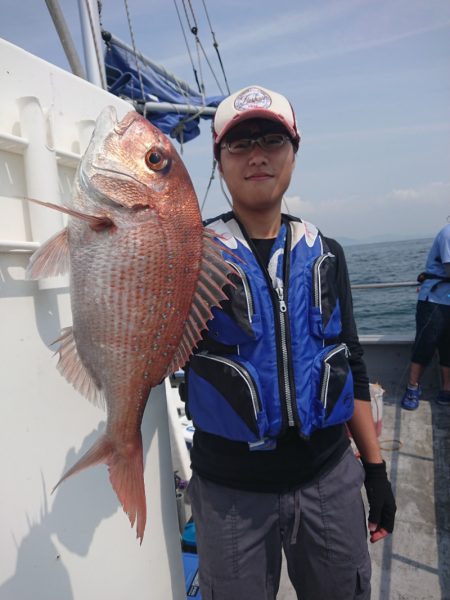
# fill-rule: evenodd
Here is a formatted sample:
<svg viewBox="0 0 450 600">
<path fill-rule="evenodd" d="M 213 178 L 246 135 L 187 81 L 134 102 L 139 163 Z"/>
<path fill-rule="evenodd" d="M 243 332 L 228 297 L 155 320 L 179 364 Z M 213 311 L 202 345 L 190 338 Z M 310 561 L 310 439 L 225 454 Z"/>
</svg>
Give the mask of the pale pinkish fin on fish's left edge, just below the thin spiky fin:
<svg viewBox="0 0 450 600">
<path fill-rule="evenodd" d="M 69 241 L 67 227 L 53 235 L 33 253 L 26 271 L 27 279 L 56 277 L 69 270 Z"/>
</svg>

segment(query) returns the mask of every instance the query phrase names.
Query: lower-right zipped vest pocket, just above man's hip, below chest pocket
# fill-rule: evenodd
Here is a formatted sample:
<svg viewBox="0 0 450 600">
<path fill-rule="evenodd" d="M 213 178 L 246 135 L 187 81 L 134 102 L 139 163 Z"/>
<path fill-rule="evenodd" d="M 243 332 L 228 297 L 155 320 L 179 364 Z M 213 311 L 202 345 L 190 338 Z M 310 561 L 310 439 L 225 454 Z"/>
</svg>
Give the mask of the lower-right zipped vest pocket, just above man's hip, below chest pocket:
<svg viewBox="0 0 450 600">
<path fill-rule="evenodd" d="M 313 363 L 313 426 L 319 429 L 348 421 L 353 415 L 353 377 L 345 344 L 325 347 Z"/>
</svg>

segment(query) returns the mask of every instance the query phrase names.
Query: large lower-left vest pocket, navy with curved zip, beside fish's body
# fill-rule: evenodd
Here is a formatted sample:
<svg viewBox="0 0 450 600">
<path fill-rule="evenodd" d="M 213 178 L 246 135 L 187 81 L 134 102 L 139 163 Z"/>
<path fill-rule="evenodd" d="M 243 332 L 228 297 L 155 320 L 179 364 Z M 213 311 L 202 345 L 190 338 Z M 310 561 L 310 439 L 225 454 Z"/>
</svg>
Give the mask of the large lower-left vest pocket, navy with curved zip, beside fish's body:
<svg viewBox="0 0 450 600">
<path fill-rule="evenodd" d="M 267 433 L 256 369 L 237 355 L 194 355 L 187 381 L 188 409 L 196 428 L 240 442 Z"/>
</svg>

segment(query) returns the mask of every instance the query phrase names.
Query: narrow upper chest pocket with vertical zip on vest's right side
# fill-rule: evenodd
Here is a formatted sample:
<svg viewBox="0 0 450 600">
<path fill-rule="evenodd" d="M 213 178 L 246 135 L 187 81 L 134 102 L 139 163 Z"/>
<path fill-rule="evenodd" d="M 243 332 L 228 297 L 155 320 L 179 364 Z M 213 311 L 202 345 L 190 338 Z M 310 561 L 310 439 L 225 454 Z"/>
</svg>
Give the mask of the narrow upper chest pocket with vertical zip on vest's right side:
<svg viewBox="0 0 450 600">
<path fill-rule="evenodd" d="M 312 335 L 332 339 L 341 333 L 341 310 L 335 285 L 336 257 L 321 254 L 308 265 L 309 328 Z"/>
</svg>

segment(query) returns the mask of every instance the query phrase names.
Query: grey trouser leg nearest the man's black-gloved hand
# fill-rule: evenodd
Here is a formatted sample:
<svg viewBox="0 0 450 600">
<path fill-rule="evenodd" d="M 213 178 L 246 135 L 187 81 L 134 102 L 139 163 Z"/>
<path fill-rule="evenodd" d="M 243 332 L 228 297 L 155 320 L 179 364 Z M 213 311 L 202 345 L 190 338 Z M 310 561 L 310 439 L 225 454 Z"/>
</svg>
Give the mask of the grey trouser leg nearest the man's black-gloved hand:
<svg viewBox="0 0 450 600">
<path fill-rule="evenodd" d="M 283 548 L 299 599 L 369 600 L 363 481 L 364 469 L 349 448 L 329 473 L 282 495 Z"/>
</svg>

